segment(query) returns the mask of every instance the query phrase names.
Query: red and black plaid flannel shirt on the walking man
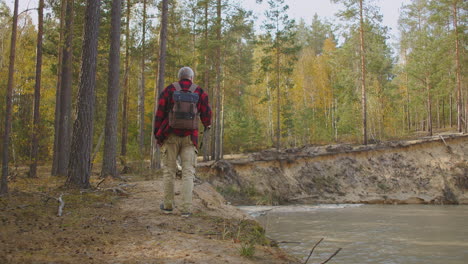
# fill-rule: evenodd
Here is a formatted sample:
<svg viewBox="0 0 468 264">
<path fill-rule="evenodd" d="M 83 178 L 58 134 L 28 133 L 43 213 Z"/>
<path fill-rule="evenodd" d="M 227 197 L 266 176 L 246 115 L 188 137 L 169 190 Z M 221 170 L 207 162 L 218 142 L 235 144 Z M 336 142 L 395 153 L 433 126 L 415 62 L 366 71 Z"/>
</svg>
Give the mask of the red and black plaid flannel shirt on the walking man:
<svg viewBox="0 0 468 264">
<path fill-rule="evenodd" d="M 188 91 L 192 85 L 192 81 L 186 79 L 179 81 L 179 83 L 183 91 Z M 169 126 L 169 112 L 174 105 L 174 100 L 172 99 L 174 91 L 175 87 L 171 84 L 159 95 L 158 110 L 156 111 L 156 118 L 154 120 L 154 136 L 159 145 L 163 144 L 170 133 L 179 137 L 191 136 L 193 144 L 197 147 L 198 129 L 175 129 Z M 211 125 L 211 108 L 208 103 L 208 94 L 200 86 L 195 89 L 195 93 L 198 93 L 200 98 L 197 104 L 200 121 L 203 123 L 203 126 L 208 127 Z"/>
</svg>

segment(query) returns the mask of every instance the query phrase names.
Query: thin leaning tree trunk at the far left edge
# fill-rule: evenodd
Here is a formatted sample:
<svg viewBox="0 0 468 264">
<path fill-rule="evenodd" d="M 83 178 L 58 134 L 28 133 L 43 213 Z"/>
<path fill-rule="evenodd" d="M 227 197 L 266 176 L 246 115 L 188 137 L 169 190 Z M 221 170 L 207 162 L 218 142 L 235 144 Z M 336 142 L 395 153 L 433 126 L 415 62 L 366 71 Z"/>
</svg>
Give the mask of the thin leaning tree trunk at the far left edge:
<svg viewBox="0 0 468 264">
<path fill-rule="evenodd" d="M 15 56 L 16 56 L 16 32 L 18 28 L 18 1 L 15 0 L 13 10 L 13 24 L 11 27 L 11 42 L 10 42 L 10 62 L 8 65 L 8 84 L 6 93 L 6 110 L 5 110 L 5 130 L 3 131 L 3 149 L 2 149 L 2 181 L 0 184 L 0 195 L 8 192 L 8 162 L 9 162 L 9 145 L 11 131 L 11 115 L 13 106 L 13 82 L 15 74 Z"/>
</svg>

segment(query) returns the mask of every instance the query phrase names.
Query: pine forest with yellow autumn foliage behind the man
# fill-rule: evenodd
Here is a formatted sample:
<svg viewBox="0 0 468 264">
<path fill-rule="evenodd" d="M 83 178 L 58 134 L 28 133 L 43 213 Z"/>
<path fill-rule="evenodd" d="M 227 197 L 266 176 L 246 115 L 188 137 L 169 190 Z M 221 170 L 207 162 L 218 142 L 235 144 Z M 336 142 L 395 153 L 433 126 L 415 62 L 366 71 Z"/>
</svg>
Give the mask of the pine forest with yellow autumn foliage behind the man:
<svg viewBox="0 0 468 264">
<path fill-rule="evenodd" d="M 151 153 L 161 2 L 121 2 L 117 155 L 122 164 L 148 159 Z M 388 28 L 373 1 L 334 0 L 343 4 L 337 13 L 340 22 L 315 15 L 310 24 L 288 17 L 287 1 L 264 2 L 269 8 L 262 30 L 256 31 L 252 11 L 236 1 L 168 1 L 165 86 L 176 80 L 180 67 L 191 66 L 195 82 L 209 93 L 215 117 L 210 138 L 203 143 L 205 159 L 271 147 L 375 143 L 414 133 L 432 135 L 433 130 L 466 132 L 468 2 L 413 0 L 403 6 L 396 49 L 389 44 Z M 72 5 L 70 24 L 64 3 Z M 103 156 L 112 3 L 104 0 L 100 7 L 94 163 Z M 9 149 L 14 164 L 31 162 L 33 131 L 38 133 L 39 163 L 54 159 L 66 25 L 73 35 L 69 108 L 71 120 L 76 118 L 86 1 L 47 0 L 44 7 L 37 127 L 33 112 L 38 28 L 31 18 L 36 7 L 18 16 Z M 0 0 L 0 98 L 7 93 L 12 19 L 12 10 Z M 4 99 L 1 102 L 0 117 L 5 120 Z M 0 132 L 4 134 L 3 126 Z"/>
</svg>

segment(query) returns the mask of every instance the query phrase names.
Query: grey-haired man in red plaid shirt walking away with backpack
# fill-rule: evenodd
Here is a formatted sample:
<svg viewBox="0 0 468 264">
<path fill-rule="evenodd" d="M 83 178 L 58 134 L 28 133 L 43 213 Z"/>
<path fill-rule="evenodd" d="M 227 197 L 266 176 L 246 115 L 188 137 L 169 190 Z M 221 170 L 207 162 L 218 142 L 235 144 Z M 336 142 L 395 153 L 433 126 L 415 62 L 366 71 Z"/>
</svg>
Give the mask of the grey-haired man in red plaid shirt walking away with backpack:
<svg viewBox="0 0 468 264">
<path fill-rule="evenodd" d="M 192 191 L 198 146 L 198 120 L 205 129 L 211 126 L 208 94 L 193 83 L 194 73 L 189 67 L 179 70 L 179 81 L 167 86 L 159 95 L 154 123 L 154 136 L 161 146 L 164 202 L 160 209 L 172 213 L 177 157 L 182 165 L 182 217 L 192 214 Z"/>
</svg>

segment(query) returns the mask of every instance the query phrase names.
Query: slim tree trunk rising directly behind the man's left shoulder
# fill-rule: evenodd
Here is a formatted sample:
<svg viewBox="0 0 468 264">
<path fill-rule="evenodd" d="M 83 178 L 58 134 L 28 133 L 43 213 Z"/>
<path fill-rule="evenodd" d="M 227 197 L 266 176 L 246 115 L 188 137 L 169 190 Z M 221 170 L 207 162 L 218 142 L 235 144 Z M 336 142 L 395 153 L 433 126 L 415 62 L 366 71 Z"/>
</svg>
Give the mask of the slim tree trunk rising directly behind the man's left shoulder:
<svg viewBox="0 0 468 264">
<path fill-rule="evenodd" d="M 154 92 L 154 111 L 153 111 L 153 131 L 154 121 L 156 119 L 156 110 L 158 109 L 159 94 L 164 89 L 164 77 L 166 73 L 166 53 L 167 53 L 167 13 L 168 13 L 168 0 L 162 0 L 162 14 L 161 14 L 161 32 L 159 35 L 159 65 L 158 65 L 158 83 L 156 91 Z M 156 144 L 156 138 L 153 133 L 151 135 L 151 168 L 161 168 L 161 159 L 159 157 L 159 148 Z"/>
</svg>

